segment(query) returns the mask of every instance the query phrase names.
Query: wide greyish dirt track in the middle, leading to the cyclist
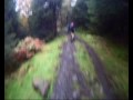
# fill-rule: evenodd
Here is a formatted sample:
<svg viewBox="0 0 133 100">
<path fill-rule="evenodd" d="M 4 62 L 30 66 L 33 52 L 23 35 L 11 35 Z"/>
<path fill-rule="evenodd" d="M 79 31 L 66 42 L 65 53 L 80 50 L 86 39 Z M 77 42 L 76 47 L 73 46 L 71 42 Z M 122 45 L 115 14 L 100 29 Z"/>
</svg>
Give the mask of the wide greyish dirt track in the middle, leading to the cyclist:
<svg viewBox="0 0 133 100">
<path fill-rule="evenodd" d="M 61 56 L 61 64 L 57 82 L 54 84 L 51 99 L 80 99 L 81 94 L 91 97 L 90 90 L 86 88 L 84 76 L 79 70 L 79 64 L 74 59 L 75 47 L 70 41 L 64 42 L 63 52 Z M 82 91 L 73 88 L 74 82 L 79 83 Z"/>
</svg>

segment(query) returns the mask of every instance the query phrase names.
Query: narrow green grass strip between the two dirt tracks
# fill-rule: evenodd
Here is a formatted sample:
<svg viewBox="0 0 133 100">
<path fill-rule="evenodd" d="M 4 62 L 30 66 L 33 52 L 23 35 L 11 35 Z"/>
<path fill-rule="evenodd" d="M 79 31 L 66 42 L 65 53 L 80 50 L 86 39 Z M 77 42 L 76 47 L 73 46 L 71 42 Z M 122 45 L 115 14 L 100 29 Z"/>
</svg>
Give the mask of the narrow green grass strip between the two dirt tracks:
<svg viewBox="0 0 133 100">
<path fill-rule="evenodd" d="M 104 94 L 103 91 L 101 92 L 101 83 L 98 80 L 98 76 L 94 70 L 94 66 L 92 63 L 92 59 L 89 57 L 88 51 L 85 50 L 84 46 L 80 42 L 75 41 L 76 52 L 75 59 L 79 62 L 80 70 L 84 74 L 89 89 L 93 92 L 93 99 L 103 99 Z M 85 97 L 82 97 L 84 100 Z"/>
</svg>

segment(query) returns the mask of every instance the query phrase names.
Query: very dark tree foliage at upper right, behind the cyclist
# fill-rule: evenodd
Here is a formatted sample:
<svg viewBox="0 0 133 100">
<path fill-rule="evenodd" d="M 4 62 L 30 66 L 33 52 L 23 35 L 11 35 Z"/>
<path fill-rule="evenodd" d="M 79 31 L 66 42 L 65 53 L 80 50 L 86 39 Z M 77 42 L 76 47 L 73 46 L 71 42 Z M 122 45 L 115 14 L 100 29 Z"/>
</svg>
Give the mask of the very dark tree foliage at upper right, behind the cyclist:
<svg viewBox="0 0 133 100">
<path fill-rule="evenodd" d="M 78 0 L 72 19 L 78 27 L 125 37 L 129 32 L 127 0 Z"/>
</svg>

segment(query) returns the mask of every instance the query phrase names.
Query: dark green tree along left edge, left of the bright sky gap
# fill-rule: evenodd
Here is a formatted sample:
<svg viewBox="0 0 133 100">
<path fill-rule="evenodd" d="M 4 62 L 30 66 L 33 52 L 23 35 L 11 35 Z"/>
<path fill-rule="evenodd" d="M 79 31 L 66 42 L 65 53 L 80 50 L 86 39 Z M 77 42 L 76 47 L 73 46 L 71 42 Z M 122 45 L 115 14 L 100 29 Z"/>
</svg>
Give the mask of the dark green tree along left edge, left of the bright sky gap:
<svg viewBox="0 0 133 100">
<path fill-rule="evenodd" d="M 14 67 L 18 62 L 13 59 L 12 52 L 18 43 L 18 21 L 14 12 L 13 0 L 4 1 L 4 68 Z"/>
</svg>

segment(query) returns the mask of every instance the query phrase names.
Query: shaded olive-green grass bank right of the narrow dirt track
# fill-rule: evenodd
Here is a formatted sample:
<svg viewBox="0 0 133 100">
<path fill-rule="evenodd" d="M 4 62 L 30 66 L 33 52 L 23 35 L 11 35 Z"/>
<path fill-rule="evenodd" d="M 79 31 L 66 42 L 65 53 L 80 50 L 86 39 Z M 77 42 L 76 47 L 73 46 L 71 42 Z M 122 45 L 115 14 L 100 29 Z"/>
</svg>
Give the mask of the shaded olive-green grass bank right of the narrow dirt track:
<svg viewBox="0 0 133 100">
<path fill-rule="evenodd" d="M 78 36 L 94 49 L 105 64 L 115 93 L 121 98 L 129 98 L 129 49 L 86 31 L 79 31 Z"/>
</svg>

